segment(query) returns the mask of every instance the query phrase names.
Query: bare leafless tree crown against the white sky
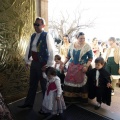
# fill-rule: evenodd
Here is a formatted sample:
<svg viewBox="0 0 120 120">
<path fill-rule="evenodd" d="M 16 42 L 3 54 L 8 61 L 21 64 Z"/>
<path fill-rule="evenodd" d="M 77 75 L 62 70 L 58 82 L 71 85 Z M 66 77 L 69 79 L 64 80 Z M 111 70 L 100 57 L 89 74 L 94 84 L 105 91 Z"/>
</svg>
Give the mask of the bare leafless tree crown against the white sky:
<svg viewBox="0 0 120 120">
<path fill-rule="evenodd" d="M 61 19 L 52 18 L 49 21 L 49 29 L 54 29 L 58 32 L 59 38 L 62 39 L 64 34 L 68 36 L 74 36 L 75 32 L 80 31 L 81 29 L 90 28 L 94 26 L 93 20 L 87 20 L 87 22 L 82 23 L 82 11 L 74 12 L 74 17 L 71 18 L 70 14 L 66 11 L 66 15 L 60 12 Z"/>
</svg>

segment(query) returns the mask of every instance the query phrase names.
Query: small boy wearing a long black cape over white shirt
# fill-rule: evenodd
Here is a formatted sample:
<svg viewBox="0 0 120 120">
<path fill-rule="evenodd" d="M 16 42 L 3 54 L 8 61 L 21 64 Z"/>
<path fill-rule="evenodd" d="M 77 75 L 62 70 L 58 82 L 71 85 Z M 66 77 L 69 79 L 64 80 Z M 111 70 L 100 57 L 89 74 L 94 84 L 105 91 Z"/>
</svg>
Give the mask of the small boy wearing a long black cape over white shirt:
<svg viewBox="0 0 120 120">
<path fill-rule="evenodd" d="M 90 70 L 88 76 L 88 97 L 96 97 L 97 105 L 95 109 L 101 107 L 101 103 L 110 106 L 111 104 L 111 75 L 104 69 L 104 59 L 98 57 L 95 59 L 95 68 Z"/>
</svg>

